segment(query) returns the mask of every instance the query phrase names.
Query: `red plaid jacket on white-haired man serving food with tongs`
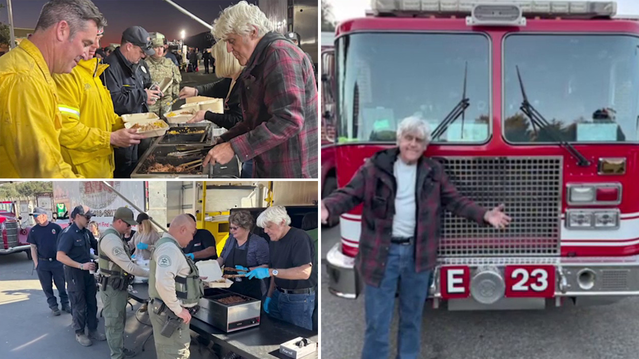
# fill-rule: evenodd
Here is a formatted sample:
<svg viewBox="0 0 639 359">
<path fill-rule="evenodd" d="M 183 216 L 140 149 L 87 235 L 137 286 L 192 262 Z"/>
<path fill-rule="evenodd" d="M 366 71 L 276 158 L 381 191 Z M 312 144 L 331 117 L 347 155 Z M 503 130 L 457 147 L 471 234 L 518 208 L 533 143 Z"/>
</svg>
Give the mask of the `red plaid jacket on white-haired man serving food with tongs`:
<svg viewBox="0 0 639 359">
<path fill-rule="evenodd" d="M 254 178 L 318 177 L 318 93 L 312 64 L 267 33 L 240 74 L 243 121 L 222 135 Z"/>
</svg>

